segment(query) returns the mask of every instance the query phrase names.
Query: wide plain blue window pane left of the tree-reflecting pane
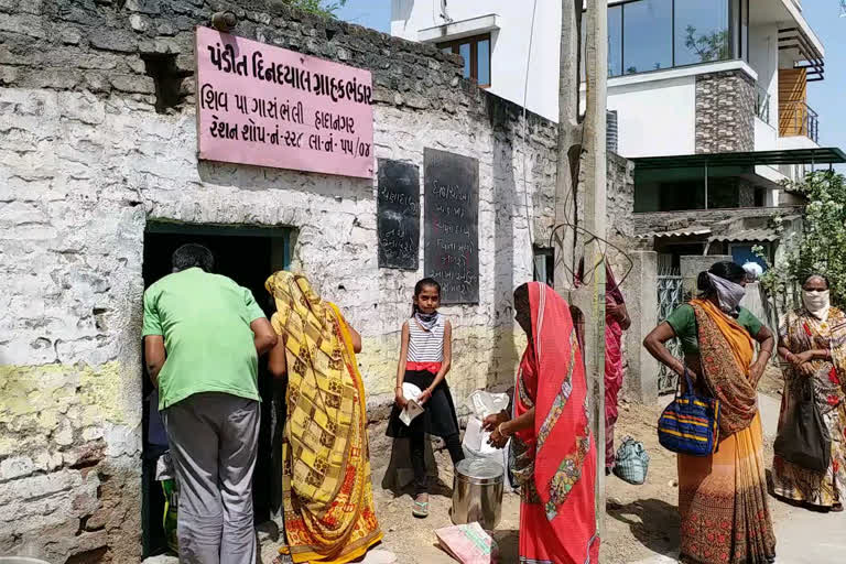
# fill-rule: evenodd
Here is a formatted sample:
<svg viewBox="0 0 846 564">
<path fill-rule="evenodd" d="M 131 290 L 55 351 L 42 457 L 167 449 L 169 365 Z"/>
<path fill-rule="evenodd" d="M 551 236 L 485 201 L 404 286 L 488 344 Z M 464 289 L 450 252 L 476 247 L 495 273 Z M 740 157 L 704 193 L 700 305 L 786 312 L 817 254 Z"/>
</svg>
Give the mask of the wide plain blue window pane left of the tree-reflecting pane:
<svg viewBox="0 0 846 564">
<path fill-rule="evenodd" d="M 622 6 L 625 74 L 673 66 L 673 0 L 641 0 Z"/>
</svg>

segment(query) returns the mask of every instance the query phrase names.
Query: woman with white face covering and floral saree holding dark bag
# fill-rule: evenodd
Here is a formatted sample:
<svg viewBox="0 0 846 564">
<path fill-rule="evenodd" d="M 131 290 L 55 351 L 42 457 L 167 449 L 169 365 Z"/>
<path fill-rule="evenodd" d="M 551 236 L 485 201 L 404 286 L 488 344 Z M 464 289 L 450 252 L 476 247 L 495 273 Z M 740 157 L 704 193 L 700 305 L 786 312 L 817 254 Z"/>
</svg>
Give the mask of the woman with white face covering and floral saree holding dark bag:
<svg viewBox="0 0 846 564">
<path fill-rule="evenodd" d="M 828 281 L 809 276 L 804 306 L 779 329 L 785 361 L 774 494 L 788 501 L 843 511 L 846 497 L 846 314 L 832 307 Z"/>
</svg>

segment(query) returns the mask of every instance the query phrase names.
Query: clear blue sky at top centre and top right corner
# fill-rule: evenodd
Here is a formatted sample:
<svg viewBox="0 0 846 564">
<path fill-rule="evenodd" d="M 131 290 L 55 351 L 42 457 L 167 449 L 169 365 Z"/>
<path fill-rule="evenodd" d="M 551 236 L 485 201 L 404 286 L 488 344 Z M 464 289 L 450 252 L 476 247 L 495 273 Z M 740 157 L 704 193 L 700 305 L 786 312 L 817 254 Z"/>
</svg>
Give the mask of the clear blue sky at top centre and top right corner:
<svg viewBox="0 0 846 564">
<path fill-rule="evenodd" d="M 846 18 L 838 0 L 804 0 L 802 10 L 825 46 L 825 80 L 807 85 L 807 104 L 820 115 L 820 144 L 846 151 Z M 391 0 L 347 0 L 341 20 L 388 33 Z"/>
</svg>

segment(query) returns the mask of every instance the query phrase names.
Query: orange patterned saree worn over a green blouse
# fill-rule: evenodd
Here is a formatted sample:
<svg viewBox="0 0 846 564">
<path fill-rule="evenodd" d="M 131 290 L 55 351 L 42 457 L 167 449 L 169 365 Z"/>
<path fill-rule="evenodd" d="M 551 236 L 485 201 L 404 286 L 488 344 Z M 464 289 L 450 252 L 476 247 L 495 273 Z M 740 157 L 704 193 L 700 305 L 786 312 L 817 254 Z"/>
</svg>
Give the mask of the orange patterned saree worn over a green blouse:
<svg viewBox="0 0 846 564">
<path fill-rule="evenodd" d="M 767 502 L 758 382 L 747 330 L 707 300 L 691 302 L 702 366 L 699 377 L 720 400 L 719 446 L 711 456 L 679 455 L 680 562 L 766 564 L 776 557 Z"/>
</svg>

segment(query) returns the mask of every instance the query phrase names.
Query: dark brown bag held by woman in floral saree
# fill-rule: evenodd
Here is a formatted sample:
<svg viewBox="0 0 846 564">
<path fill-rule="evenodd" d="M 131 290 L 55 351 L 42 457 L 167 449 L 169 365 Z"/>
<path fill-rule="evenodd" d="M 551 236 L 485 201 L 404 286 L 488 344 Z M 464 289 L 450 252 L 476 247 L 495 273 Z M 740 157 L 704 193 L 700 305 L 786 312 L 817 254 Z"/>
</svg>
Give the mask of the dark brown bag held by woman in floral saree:
<svg viewBox="0 0 846 564">
<path fill-rule="evenodd" d="M 832 463 L 832 437 L 814 399 L 814 383 L 803 378 L 800 397 L 782 420 L 773 451 L 789 463 L 825 473 Z"/>
</svg>

